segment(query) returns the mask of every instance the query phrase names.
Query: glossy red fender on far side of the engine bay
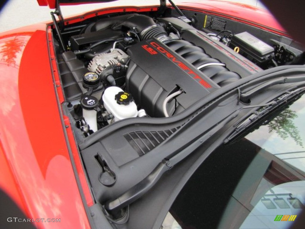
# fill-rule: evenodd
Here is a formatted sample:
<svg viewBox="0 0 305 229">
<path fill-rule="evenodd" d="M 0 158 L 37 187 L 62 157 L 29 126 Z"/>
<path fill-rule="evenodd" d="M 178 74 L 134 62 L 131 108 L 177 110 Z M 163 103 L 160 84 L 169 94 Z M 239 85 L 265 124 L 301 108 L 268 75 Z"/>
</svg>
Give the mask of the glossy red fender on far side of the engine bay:
<svg viewBox="0 0 305 229">
<path fill-rule="evenodd" d="M 181 9 L 193 9 L 198 12 L 211 13 L 232 20 L 260 27 L 264 30 L 285 35 L 285 29 L 278 23 L 272 14 L 266 10 L 251 5 L 226 1 L 201 1 L 179 3 Z"/>
</svg>

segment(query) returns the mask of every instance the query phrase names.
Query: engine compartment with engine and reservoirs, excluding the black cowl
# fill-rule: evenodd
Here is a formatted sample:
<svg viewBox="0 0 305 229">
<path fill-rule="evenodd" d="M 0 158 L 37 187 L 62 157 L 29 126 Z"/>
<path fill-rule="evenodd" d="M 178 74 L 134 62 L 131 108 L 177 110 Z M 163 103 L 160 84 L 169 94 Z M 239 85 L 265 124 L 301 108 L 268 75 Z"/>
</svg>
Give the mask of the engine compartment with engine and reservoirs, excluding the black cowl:
<svg viewBox="0 0 305 229">
<path fill-rule="evenodd" d="M 65 108 L 80 135 L 125 118 L 170 117 L 241 78 L 304 64 L 290 38 L 184 13 L 115 13 L 54 30 Z"/>
</svg>

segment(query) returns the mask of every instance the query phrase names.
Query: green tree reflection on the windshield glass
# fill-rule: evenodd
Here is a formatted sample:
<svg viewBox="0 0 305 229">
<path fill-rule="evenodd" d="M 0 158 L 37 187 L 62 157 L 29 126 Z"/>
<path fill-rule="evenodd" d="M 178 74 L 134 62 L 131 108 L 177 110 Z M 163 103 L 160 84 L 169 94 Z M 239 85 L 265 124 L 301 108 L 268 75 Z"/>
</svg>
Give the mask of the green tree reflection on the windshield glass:
<svg viewBox="0 0 305 229">
<path fill-rule="evenodd" d="M 286 109 L 268 123 L 269 133 L 274 130 L 284 140 L 290 136 L 296 144 L 303 147 L 300 131 L 293 123 L 293 119 L 296 117 L 298 115 L 295 111 Z"/>
</svg>

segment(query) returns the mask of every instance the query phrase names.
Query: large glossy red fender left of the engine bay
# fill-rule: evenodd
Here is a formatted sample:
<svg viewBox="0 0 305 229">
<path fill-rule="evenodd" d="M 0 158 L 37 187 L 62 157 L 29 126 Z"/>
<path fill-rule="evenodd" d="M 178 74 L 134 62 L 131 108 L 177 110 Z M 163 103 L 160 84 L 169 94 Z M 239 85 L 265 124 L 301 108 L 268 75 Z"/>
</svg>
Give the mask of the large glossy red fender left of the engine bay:
<svg viewBox="0 0 305 229">
<path fill-rule="evenodd" d="M 30 31 L 30 32 L 29 32 Z M 0 35 L 0 186 L 38 228 L 89 228 L 52 80 L 45 25 Z M 11 182 L 6 183 L 7 180 Z"/>
</svg>

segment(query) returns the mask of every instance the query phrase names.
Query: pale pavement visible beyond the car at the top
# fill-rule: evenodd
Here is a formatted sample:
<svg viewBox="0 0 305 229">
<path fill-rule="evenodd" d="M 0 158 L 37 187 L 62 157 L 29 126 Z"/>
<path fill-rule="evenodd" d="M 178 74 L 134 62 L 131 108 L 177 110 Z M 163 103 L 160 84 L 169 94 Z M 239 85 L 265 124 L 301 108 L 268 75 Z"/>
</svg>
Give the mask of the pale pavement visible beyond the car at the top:
<svg viewBox="0 0 305 229">
<path fill-rule="evenodd" d="M 199 0 L 196 0 L 200 2 Z M 257 7 L 264 7 L 259 0 L 230 0 L 231 2 L 241 2 Z M 61 6 L 64 17 L 88 12 L 109 6 L 120 5 L 141 5 L 144 1 L 124 0 L 99 4 L 86 4 L 74 6 Z M 174 0 L 175 3 L 185 2 L 185 0 Z M 159 0 L 145 0 L 145 5 L 160 4 Z M 54 11 L 54 10 L 53 10 Z M 39 6 L 36 0 L 10 0 L 0 11 L 0 32 L 23 27 L 42 21 L 50 21 L 51 9 L 48 6 Z"/>
</svg>

